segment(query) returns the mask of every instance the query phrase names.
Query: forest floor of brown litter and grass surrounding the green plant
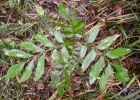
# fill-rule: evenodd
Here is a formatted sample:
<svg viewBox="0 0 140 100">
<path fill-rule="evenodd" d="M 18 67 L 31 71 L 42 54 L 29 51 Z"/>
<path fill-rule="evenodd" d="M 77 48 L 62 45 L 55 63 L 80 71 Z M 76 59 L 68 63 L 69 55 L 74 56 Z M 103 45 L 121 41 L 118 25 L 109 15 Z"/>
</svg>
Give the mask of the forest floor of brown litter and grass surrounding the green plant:
<svg viewBox="0 0 140 100">
<path fill-rule="evenodd" d="M 14 1 L 0 0 L 0 100 L 140 100 L 140 2 L 138 0 Z M 18 4 L 18 1 L 21 1 L 21 4 Z M 98 26 L 100 33 L 96 41 L 119 34 L 120 37 L 112 47 L 127 47 L 133 50 L 120 59 L 121 65 L 130 75 L 129 82 L 120 82 L 111 75 L 105 91 L 101 92 L 98 80 L 93 85 L 89 85 L 89 71 L 86 71 L 84 76 L 74 71 L 71 78 L 73 87 L 63 96 L 58 96 L 58 89 L 51 88 L 50 76 L 46 77 L 46 74 L 50 73 L 50 53 L 47 54 L 44 74 L 39 81 L 33 79 L 34 70 L 33 75 L 23 83 L 20 83 L 18 76 L 6 79 L 5 75 L 10 66 L 21 60 L 4 55 L 3 49 L 10 49 L 13 46 L 12 42 L 10 46 L 6 44 L 6 39 L 18 45 L 21 41 L 32 39 L 32 36 L 38 32 L 45 34 L 48 26 L 52 29 L 58 28 L 54 26 L 52 20 L 63 22 L 58 12 L 58 5 L 61 3 L 71 9 L 71 12 L 73 9 L 78 11 L 77 19 L 83 19 L 86 26 L 85 34 L 89 34 L 91 29 Z M 46 23 L 37 16 L 37 11 L 32 4 L 40 6 L 47 12 Z"/>
</svg>

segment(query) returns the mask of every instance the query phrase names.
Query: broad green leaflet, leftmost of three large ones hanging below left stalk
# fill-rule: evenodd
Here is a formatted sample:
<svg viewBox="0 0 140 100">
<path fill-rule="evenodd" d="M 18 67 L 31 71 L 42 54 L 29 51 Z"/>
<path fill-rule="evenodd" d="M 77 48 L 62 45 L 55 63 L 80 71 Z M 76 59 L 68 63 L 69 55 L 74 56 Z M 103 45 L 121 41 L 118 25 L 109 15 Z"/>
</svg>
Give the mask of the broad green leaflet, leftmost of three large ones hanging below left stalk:
<svg viewBox="0 0 140 100">
<path fill-rule="evenodd" d="M 24 65 L 25 65 L 25 62 L 21 62 L 16 65 L 12 65 L 7 71 L 6 78 L 9 79 L 9 78 L 14 78 L 14 77 L 18 76 L 21 73 Z"/>
</svg>

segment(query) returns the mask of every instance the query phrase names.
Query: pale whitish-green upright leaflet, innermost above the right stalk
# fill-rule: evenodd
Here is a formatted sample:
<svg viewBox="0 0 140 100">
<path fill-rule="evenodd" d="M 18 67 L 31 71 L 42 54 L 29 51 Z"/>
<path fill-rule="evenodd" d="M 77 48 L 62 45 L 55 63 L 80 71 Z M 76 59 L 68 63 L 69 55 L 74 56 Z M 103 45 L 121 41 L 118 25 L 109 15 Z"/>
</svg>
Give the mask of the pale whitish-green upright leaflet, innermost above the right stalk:
<svg viewBox="0 0 140 100">
<path fill-rule="evenodd" d="M 94 40 L 96 39 L 98 33 L 99 33 L 100 27 L 95 28 L 89 35 L 88 37 L 88 43 L 92 43 L 94 42 Z"/>
</svg>

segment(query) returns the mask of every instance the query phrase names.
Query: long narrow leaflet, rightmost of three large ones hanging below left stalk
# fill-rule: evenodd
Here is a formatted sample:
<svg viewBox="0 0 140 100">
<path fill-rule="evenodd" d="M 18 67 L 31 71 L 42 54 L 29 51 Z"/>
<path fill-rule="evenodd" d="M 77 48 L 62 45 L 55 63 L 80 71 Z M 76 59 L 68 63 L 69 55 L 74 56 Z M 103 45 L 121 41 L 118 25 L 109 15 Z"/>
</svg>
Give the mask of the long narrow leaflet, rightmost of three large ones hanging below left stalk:
<svg viewBox="0 0 140 100">
<path fill-rule="evenodd" d="M 44 66 L 45 66 L 45 54 L 43 54 L 39 59 L 37 63 L 36 73 L 35 73 L 35 81 L 37 81 L 44 72 Z"/>
</svg>

